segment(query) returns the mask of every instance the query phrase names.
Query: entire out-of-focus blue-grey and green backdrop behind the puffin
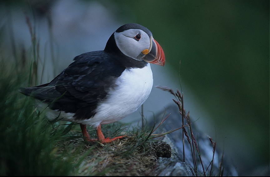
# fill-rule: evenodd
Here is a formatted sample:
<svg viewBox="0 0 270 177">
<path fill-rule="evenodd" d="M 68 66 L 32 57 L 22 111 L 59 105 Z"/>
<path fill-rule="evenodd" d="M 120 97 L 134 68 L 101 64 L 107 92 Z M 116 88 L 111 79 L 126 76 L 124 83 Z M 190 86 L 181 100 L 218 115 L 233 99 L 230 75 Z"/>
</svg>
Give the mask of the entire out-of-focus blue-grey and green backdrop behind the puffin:
<svg viewBox="0 0 270 177">
<path fill-rule="evenodd" d="M 166 56 L 164 67 L 151 66 L 154 85 L 176 91 L 181 80 L 185 109 L 240 175 L 269 170 L 269 1 L 2 1 L 0 15 L 0 52 L 10 61 L 23 48 L 31 56 L 30 18 L 40 83 L 76 55 L 103 50 L 121 25 L 147 27 Z M 153 87 L 144 116 L 172 98 Z M 137 122 L 140 111 L 122 121 Z"/>
</svg>

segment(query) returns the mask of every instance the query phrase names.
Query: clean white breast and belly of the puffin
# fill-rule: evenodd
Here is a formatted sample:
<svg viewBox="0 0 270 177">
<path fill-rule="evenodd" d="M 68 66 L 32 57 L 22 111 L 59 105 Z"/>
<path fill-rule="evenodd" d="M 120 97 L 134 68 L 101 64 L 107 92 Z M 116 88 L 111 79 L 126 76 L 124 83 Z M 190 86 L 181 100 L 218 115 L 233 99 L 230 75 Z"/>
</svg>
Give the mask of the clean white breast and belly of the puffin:
<svg viewBox="0 0 270 177">
<path fill-rule="evenodd" d="M 97 113 L 84 124 L 97 126 L 120 120 L 136 111 L 148 98 L 153 86 L 150 64 L 142 69 L 125 69 L 111 88 L 108 99 L 98 105 Z"/>
</svg>

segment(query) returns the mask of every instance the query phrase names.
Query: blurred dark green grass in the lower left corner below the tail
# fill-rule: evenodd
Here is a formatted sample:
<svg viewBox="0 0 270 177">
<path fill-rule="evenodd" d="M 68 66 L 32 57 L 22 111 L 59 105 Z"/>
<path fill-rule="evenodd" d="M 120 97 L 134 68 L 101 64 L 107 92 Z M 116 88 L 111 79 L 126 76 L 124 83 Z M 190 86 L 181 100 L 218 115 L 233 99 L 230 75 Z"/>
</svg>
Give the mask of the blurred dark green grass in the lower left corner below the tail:
<svg viewBox="0 0 270 177">
<path fill-rule="evenodd" d="M 56 154 L 57 141 L 70 127 L 58 126 L 56 130 L 35 109 L 31 99 L 18 93 L 26 77 L 21 77 L 16 68 L 1 67 L 0 72 L 0 175 L 74 174 L 78 164 L 73 162 L 72 153 Z"/>
</svg>

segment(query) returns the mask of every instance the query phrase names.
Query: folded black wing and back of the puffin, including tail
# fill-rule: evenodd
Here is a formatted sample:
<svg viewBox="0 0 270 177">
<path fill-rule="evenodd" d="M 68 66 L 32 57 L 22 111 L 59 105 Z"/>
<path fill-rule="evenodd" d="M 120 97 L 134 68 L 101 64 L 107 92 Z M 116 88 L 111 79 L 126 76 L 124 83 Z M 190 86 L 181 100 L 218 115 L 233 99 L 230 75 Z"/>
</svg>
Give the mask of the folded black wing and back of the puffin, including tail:
<svg viewBox="0 0 270 177">
<path fill-rule="evenodd" d="M 75 113 L 77 119 L 91 118 L 125 67 L 115 65 L 114 58 L 103 51 L 87 52 L 74 60 L 50 83 L 20 88 L 20 92 L 47 102 L 53 110 Z"/>
</svg>

